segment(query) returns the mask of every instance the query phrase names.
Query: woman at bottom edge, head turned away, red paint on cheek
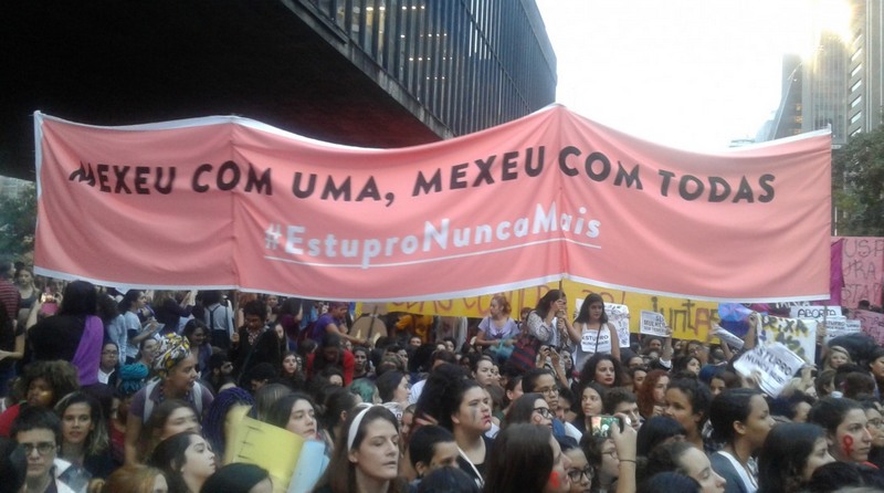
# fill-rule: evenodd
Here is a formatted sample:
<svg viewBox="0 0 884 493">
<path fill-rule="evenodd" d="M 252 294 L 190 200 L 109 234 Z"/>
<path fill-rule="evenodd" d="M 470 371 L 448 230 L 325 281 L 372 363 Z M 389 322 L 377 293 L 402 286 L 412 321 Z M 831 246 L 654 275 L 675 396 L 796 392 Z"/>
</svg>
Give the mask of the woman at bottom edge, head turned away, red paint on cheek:
<svg viewBox="0 0 884 493">
<path fill-rule="evenodd" d="M 485 493 L 570 491 L 570 459 L 548 428 L 514 424 L 501 431 L 488 461 Z"/>
</svg>

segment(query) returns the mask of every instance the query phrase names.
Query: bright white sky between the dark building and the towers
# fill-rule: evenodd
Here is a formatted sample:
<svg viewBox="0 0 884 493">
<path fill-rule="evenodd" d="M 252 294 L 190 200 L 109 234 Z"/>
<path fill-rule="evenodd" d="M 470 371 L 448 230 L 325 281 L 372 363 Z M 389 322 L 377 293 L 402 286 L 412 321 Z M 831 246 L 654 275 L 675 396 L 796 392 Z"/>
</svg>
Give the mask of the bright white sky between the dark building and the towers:
<svg viewBox="0 0 884 493">
<path fill-rule="evenodd" d="M 777 109 L 782 56 L 846 29 L 843 0 L 536 0 L 557 103 L 682 149 L 754 138 Z"/>
</svg>

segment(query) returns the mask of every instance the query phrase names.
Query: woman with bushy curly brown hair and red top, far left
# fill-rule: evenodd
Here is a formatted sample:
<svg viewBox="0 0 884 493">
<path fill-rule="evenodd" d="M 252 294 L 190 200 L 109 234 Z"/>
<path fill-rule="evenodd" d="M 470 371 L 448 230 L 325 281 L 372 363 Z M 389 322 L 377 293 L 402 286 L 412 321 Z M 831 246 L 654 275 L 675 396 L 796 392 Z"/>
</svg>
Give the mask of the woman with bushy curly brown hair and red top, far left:
<svg viewBox="0 0 884 493">
<path fill-rule="evenodd" d="M 12 421 L 28 407 L 52 410 L 62 397 L 77 390 L 77 371 L 67 361 L 33 361 L 24 367 L 24 375 L 15 382 L 15 392 L 24 401 L 10 406 L 0 415 L 0 437 L 9 437 Z"/>
</svg>

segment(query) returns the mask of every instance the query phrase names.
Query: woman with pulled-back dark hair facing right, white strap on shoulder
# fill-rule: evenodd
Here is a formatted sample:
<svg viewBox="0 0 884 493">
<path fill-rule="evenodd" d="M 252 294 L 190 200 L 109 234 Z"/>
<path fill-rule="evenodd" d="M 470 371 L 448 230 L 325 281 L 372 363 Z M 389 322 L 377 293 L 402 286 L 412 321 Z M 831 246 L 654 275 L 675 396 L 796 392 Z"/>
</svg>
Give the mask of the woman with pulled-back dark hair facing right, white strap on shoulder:
<svg viewBox="0 0 884 493">
<path fill-rule="evenodd" d="M 727 480 L 727 492 L 747 493 L 758 489 L 754 457 L 774 427 L 767 400 L 753 389 L 725 390 L 712 401 L 709 421 L 713 440 L 724 448 L 709 458 L 718 475 Z"/>
</svg>

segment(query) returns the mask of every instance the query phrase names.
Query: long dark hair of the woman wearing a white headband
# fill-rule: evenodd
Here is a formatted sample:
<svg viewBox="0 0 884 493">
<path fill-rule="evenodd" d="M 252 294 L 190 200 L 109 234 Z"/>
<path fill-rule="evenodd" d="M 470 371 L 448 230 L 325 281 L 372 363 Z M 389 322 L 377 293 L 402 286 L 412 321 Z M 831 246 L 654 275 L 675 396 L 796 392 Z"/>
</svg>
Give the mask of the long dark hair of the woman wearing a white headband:
<svg viewBox="0 0 884 493">
<path fill-rule="evenodd" d="M 341 436 L 335 441 L 332 461 L 328 463 L 328 468 L 326 468 L 323 476 L 319 478 L 319 481 L 316 483 L 314 491 L 320 491 L 325 487 L 328 487 L 332 493 L 349 493 L 357 491 L 357 464 L 350 462 L 349 454 L 351 450 L 358 449 L 362 440 L 365 440 L 368 426 L 381 419 L 392 424 L 397 432 L 399 431 L 399 420 L 396 419 L 396 416 L 393 416 L 389 409 L 383 406 L 371 406 L 357 423 L 359 428 L 354 436 L 352 447 L 347 447 L 349 430 L 352 428 L 356 418 L 360 415 L 361 411 L 354 410 L 354 412 L 347 417 L 347 422 L 344 424 Z M 399 479 L 390 480 L 390 487 L 387 490 L 387 493 L 400 493 L 404 491 L 407 491 L 407 486 L 403 485 Z"/>
</svg>

